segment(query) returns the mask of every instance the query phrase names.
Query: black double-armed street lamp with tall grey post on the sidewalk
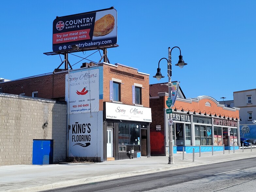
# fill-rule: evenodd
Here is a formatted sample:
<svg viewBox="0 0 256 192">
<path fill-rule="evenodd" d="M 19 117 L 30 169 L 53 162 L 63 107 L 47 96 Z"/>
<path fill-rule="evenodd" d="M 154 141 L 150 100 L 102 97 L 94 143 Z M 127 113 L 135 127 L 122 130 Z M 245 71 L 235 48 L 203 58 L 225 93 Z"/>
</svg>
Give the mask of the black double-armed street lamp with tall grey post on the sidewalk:
<svg viewBox="0 0 256 192">
<path fill-rule="evenodd" d="M 167 58 L 161 58 L 158 62 L 158 68 L 157 68 L 157 72 L 155 74 L 155 77 L 157 80 L 160 80 L 162 77 L 164 77 L 162 74 L 161 74 L 161 69 L 159 68 L 159 64 L 160 64 L 160 61 L 162 59 L 166 59 L 167 62 L 168 62 L 168 97 L 172 98 L 172 88 L 171 88 L 171 75 L 172 75 L 172 71 L 171 71 L 171 51 L 174 49 L 174 48 L 178 48 L 180 50 L 180 56 L 179 56 L 179 61 L 177 64 L 175 64 L 176 66 L 179 66 L 180 68 L 183 68 L 184 65 L 187 65 L 187 63 L 184 63 L 184 60 L 182 58 L 182 55 L 181 55 L 181 49 L 177 46 L 173 47 L 172 49 L 170 47 L 168 47 L 168 59 Z M 169 107 L 170 108 L 170 107 Z M 172 119 L 172 112 L 171 113 L 168 113 L 168 120 Z M 169 133 L 169 157 L 168 157 L 168 164 L 174 164 L 174 158 L 173 158 L 173 142 L 172 142 L 172 125 L 170 125 L 168 123 L 168 133 Z"/>
</svg>

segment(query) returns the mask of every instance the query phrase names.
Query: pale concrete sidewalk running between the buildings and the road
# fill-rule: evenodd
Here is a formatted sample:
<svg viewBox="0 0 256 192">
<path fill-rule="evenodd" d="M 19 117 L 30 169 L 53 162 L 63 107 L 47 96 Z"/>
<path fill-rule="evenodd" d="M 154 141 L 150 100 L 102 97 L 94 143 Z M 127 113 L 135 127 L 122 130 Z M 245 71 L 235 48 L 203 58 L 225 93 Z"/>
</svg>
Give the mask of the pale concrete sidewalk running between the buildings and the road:
<svg viewBox="0 0 256 192">
<path fill-rule="evenodd" d="M 256 148 L 174 154 L 174 163 L 168 164 L 168 156 L 142 157 L 93 164 L 11 165 L 0 166 L 0 191 L 43 191 L 77 184 L 88 184 L 160 171 L 194 167 L 219 162 L 256 157 Z"/>
</svg>

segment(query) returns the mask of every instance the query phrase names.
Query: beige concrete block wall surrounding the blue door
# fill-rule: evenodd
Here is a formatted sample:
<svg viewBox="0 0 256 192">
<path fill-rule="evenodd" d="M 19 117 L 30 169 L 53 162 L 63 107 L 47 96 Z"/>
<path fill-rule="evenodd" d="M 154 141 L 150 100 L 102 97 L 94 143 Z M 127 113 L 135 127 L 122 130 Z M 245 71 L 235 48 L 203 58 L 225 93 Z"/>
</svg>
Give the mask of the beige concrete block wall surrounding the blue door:
<svg viewBox="0 0 256 192">
<path fill-rule="evenodd" d="M 53 162 L 65 161 L 66 104 L 10 94 L 0 104 L 0 165 L 32 164 L 33 139 L 52 139 Z"/>
</svg>

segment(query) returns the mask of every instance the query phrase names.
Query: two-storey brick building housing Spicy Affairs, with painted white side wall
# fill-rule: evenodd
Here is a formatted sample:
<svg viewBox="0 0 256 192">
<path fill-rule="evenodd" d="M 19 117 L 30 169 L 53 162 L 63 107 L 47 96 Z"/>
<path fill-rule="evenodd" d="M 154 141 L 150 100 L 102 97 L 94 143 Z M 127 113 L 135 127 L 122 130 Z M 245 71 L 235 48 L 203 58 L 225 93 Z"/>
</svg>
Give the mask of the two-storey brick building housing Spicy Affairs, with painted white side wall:
<svg viewBox="0 0 256 192">
<path fill-rule="evenodd" d="M 86 66 L 12 80 L 0 87 L 3 93 L 67 102 L 68 157 L 95 161 L 149 157 L 149 74 L 118 63 Z"/>
</svg>

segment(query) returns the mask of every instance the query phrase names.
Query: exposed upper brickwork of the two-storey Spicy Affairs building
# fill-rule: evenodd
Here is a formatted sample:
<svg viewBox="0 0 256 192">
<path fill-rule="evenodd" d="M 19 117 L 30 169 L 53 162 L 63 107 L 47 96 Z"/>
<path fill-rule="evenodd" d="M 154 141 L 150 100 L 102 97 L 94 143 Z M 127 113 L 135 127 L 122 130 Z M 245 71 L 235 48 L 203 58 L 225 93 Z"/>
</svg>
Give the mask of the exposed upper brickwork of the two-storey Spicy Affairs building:
<svg viewBox="0 0 256 192">
<path fill-rule="evenodd" d="M 101 64 L 100 64 L 101 65 Z M 109 100 L 109 81 L 112 78 L 122 80 L 121 102 L 132 105 L 132 85 L 141 84 L 142 105 L 149 107 L 149 75 L 138 73 L 137 69 L 118 64 L 115 66 L 103 64 L 103 101 L 100 110 L 103 110 L 103 102 Z M 112 69 L 112 70 L 111 70 Z M 38 91 L 38 97 L 53 100 L 65 100 L 65 75 L 68 72 L 56 72 L 40 76 L 27 77 L 0 83 L 3 93 L 32 97 L 32 92 Z"/>
</svg>

